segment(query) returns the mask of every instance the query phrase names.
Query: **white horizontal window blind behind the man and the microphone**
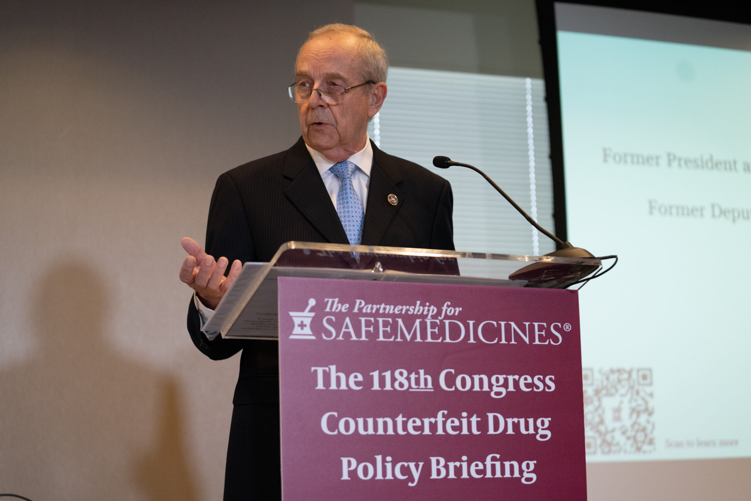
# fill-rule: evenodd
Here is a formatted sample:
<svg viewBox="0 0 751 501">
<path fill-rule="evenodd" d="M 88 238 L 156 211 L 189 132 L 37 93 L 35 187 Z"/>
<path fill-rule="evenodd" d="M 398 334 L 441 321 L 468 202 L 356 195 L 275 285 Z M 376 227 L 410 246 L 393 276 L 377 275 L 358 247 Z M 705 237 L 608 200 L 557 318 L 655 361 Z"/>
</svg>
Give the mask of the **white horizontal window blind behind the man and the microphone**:
<svg viewBox="0 0 751 501">
<path fill-rule="evenodd" d="M 475 165 L 553 231 L 544 82 L 540 79 L 389 68 L 388 98 L 369 124 L 372 140 L 445 177 L 454 190 L 457 250 L 539 255 L 555 244 L 482 177 L 433 167 L 433 157 Z"/>
</svg>

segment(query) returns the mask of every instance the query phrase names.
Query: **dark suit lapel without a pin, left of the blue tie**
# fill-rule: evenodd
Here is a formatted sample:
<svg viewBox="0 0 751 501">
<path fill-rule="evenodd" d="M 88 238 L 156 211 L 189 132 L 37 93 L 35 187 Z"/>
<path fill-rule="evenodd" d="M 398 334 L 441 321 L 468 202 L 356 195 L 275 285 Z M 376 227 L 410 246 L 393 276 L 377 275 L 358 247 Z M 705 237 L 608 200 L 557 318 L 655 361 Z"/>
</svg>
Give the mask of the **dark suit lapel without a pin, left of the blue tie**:
<svg viewBox="0 0 751 501">
<path fill-rule="evenodd" d="M 330 243 L 349 243 L 339 215 L 331 203 L 321 174 L 303 138 L 287 150 L 282 174 L 292 180 L 285 196 Z M 372 180 L 371 180 L 372 183 Z M 369 200 L 369 198 L 368 198 Z M 384 199 L 385 200 L 385 199 Z M 370 207 L 368 206 L 368 211 Z"/>
</svg>

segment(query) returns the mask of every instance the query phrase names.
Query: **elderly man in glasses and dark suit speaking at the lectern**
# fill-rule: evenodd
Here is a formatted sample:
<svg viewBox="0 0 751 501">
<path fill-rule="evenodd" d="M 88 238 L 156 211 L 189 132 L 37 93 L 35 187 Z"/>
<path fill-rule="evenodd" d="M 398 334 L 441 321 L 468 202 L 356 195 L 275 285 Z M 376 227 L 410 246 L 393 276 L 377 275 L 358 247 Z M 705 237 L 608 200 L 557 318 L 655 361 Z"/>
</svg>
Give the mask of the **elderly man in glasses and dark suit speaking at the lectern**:
<svg viewBox="0 0 751 501">
<path fill-rule="evenodd" d="M 289 88 L 302 137 L 219 177 L 206 252 L 182 239 L 189 256 L 180 279 L 195 291 L 188 311 L 193 343 L 213 360 L 243 352 L 225 499 L 281 499 L 278 344 L 201 332 L 241 264 L 269 261 L 289 240 L 454 249 L 448 181 L 368 138 L 367 124 L 386 98 L 387 71 L 384 50 L 363 29 L 333 24 L 312 32 Z"/>
</svg>

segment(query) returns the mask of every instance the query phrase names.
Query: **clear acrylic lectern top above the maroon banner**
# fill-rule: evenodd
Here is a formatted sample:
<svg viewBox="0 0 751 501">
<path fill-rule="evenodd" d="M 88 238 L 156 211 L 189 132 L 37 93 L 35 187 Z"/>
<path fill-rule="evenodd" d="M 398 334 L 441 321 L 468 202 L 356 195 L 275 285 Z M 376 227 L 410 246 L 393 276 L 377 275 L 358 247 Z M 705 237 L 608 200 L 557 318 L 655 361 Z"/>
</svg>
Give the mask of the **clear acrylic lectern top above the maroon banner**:
<svg viewBox="0 0 751 501">
<path fill-rule="evenodd" d="M 202 330 L 233 339 L 277 339 L 279 276 L 566 288 L 600 266 L 598 258 L 292 241 L 279 247 L 268 263 L 243 264 L 237 281 Z"/>
</svg>

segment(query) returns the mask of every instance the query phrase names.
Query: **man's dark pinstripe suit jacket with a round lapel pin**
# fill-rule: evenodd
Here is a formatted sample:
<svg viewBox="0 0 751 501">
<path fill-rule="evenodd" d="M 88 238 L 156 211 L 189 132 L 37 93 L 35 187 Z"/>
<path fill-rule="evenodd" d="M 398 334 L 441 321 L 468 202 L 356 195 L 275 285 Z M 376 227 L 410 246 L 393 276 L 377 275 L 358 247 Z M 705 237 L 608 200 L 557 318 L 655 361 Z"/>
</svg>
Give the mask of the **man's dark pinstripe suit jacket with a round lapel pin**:
<svg viewBox="0 0 751 501">
<path fill-rule="evenodd" d="M 372 144 L 363 245 L 454 249 L 451 185 L 411 161 Z M 397 195 L 391 205 L 387 197 Z M 321 174 L 303 138 L 290 149 L 240 165 L 216 181 L 206 231 L 214 258 L 270 261 L 282 243 L 349 243 Z M 188 311 L 193 343 L 221 360 L 243 350 L 235 405 L 279 403 L 276 341 L 208 340 L 193 302 Z"/>
</svg>

